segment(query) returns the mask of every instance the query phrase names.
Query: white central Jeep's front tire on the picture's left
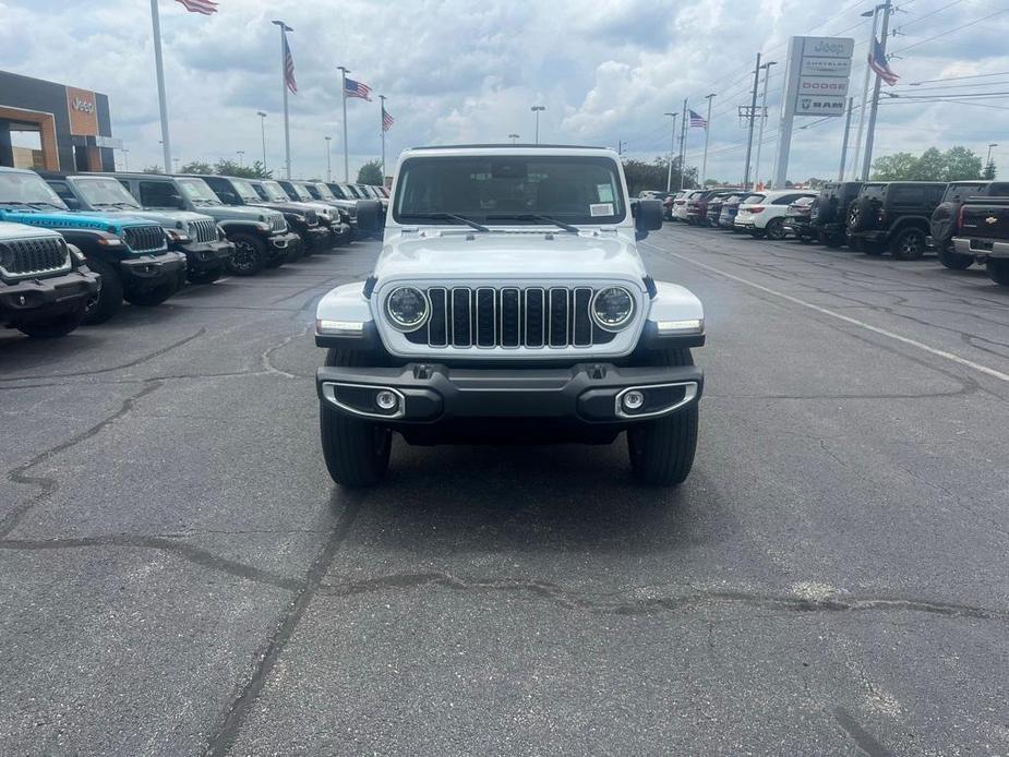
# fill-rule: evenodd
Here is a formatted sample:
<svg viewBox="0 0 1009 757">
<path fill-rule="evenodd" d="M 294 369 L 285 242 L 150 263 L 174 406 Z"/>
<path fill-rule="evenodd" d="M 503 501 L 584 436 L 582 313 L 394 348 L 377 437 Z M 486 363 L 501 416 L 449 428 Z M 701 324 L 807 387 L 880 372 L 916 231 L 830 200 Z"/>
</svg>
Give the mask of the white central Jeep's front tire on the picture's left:
<svg viewBox="0 0 1009 757">
<path fill-rule="evenodd" d="M 371 352 L 331 349 L 326 365 L 381 364 Z M 329 478 L 343 486 L 371 486 L 388 470 L 393 432 L 371 421 L 351 418 L 322 405 L 319 426 Z"/>
</svg>

